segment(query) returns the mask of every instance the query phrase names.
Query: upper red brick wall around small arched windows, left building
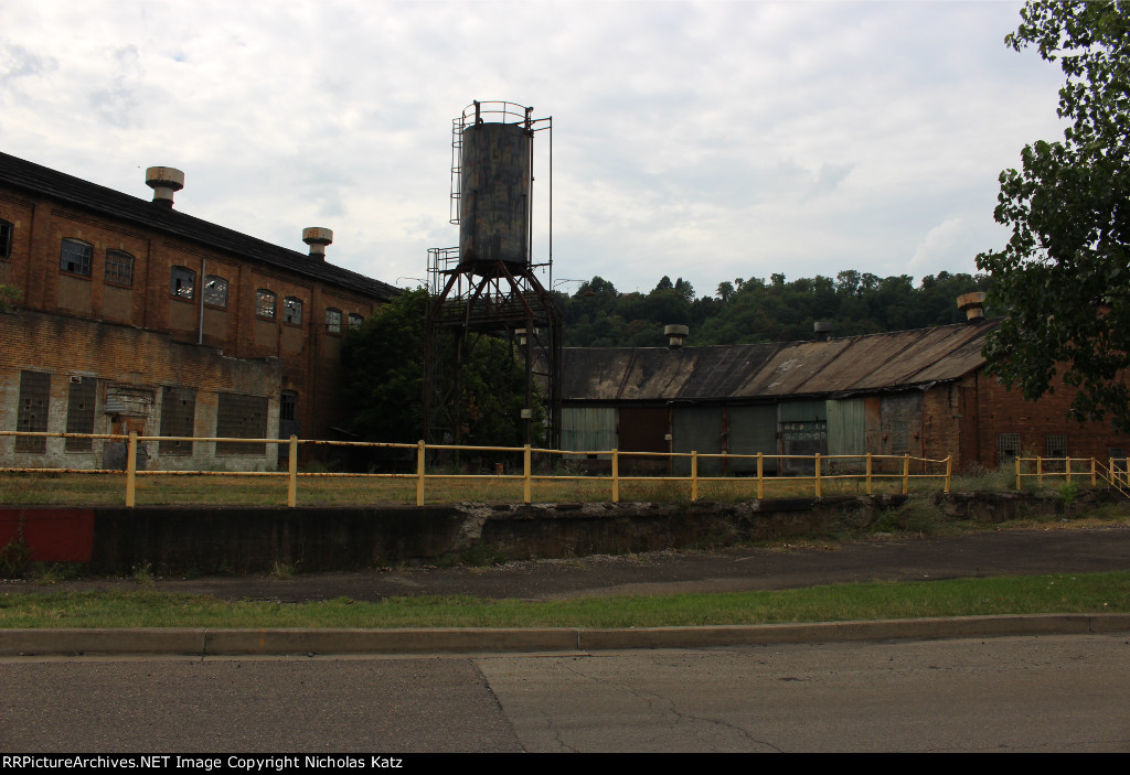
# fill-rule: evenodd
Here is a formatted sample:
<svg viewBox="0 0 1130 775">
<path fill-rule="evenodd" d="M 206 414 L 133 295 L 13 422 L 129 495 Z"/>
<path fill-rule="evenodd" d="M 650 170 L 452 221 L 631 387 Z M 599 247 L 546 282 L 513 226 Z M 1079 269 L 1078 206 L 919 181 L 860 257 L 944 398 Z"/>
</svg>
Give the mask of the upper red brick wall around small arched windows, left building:
<svg viewBox="0 0 1130 775">
<path fill-rule="evenodd" d="M 205 308 L 202 343 L 231 358 L 278 359 L 282 375 L 279 389 L 298 394 L 297 419 L 304 438 L 330 438 L 330 426 L 342 422 L 338 400 L 341 336 L 327 333 L 325 309 L 341 310 L 345 329 L 350 312 L 367 318 L 375 311 L 379 303 L 373 299 L 19 191 L 0 188 L 0 219 L 15 224 L 12 257 L 0 262 L 0 282 L 21 289 L 25 308 L 125 323 L 167 333 L 176 342 L 195 343 L 201 340 L 205 278 L 223 276 L 228 281 L 227 308 Z M 94 246 L 89 278 L 59 271 L 61 240 L 68 238 Z M 133 288 L 125 302 L 120 289 L 110 290 L 104 282 L 107 249 L 125 250 L 134 258 Z M 173 266 L 195 273 L 191 301 L 169 293 Z M 255 315 L 259 289 L 276 294 L 273 320 Z M 287 297 L 303 302 L 301 326 L 282 320 Z M 123 315 L 123 309 L 128 314 Z"/>
</svg>

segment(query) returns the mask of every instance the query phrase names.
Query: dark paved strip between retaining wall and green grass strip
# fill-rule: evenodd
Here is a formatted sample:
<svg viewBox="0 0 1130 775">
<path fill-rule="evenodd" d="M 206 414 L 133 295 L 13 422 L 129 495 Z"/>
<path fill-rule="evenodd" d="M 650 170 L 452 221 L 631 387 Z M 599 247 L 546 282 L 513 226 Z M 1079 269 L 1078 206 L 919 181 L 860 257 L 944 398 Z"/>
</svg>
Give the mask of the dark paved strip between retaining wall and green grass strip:
<svg viewBox="0 0 1130 775">
<path fill-rule="evenodd" d="M 1130 527 L 1000 530 L 861 543 L 652 552 L 512 562 L 490 567 L 426 565 L 342 573 L 81 579 L 52 584 L 0 581 L 7 592 L 138 590 L 223 599 L 297 602 L 416 595 L 548 600 L 601 595 L 668 595 L 789 589 L 853 581 L 910 581 L 1130 570 Z"/>
</svg>

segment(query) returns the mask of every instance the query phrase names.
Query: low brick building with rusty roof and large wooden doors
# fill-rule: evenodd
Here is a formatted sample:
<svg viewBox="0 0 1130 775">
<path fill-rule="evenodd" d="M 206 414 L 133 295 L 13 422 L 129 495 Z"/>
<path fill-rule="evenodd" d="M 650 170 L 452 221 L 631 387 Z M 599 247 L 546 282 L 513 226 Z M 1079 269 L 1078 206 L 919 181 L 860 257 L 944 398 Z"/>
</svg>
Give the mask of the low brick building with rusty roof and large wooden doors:
<svg viewBox="0 0 1130 775">
<path fill-rule="evenodd" d="M 563 448 L 733 455 L 954 457 L 996 468 L 1017 455 L 1123 458 L 1130 439 L 1067 419 L 1062 384 L 1036 402 L 985 371 L 996 323 L 817 342 L 565 350 Z M 637 468 L 666 460 L 637 458 Z M 701 460 L 749 474 L 750 459 Z M 765 459 L 766 473 L 811 463 Z M 686 458 L 675 468 L 689 468 Z"/>
</svg>

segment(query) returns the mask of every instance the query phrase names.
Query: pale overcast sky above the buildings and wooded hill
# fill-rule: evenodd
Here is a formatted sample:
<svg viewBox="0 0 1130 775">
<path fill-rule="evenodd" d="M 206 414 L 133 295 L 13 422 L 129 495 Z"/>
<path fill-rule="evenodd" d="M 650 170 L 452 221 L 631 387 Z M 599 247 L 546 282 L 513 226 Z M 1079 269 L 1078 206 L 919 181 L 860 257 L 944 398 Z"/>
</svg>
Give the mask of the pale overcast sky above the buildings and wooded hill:
<svg viewBox="0 0 1130 775">
<path fill-rule="evenodd" d="M 146 199 L 176 167 L 179 210 L 412 287 L 458 243 L 452 118 L 510 100 L 553 117 L 555 281 L 916 281 L 1000 247 L 1000 170 L 1062 135 L 1020 6 L 7 1 L 0 150 Z"/>
</svg>

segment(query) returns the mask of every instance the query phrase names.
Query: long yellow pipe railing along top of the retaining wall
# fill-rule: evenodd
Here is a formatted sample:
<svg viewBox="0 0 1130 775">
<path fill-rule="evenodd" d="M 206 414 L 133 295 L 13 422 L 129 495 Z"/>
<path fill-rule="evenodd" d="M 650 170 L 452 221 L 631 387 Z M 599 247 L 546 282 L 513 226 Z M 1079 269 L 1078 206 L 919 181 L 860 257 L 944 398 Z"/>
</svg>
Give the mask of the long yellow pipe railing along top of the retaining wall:
<svg viewBox="0 0 1130 775">
<path fill-rule="evenodd" d="M 233 439 L 217 437 L 160 437 L 94 434 L 94 433 L 51 433 L 51 432 L 16 432 L 0 431 L 0 438 L 16 437 L 19 439 L 62 438 L 62 439 L 101 439 L 112 442 L 124 442 L 121 451 L 124 457 L 124 469 L 107 468 L 0 468 L 5 473 L 35 474 L 119 474 L 125 477 L 125 505 L 133 508 L 137 502 L 138 477 L 151 476 L 267 476 L 286 478 L 288 507 L 298 503 L 298 481 L 314 477 L 366 478 L 370 481 L 400 479 L 415 484 L 415 503 L 423 505 L 425 494 L 431 495 L 431 502 L 457 501 L 497 501 L 507 497 L 504 491 L 521 486 L 521 501 L 533 501 L 534 487 L 539 487 L 539 502 L 568 502 L 576 500 L 611 500 L 619 502 L 621 497 L 633 501 L 651 500 L 685 500 L 697 501 L 704 490 L 707 497 L 738 500 L 760 500 L 766 491 L 773 491 L 775 496 L 815 495 L 822 497 L 832 490 L 844 490 L 854 485 L 872 494 L 877 485 L 888 491 L 906 493 L 912 481 L 937 481 L 945 492 L 949 492 L 953 461 L 950 458 L 932 460 L 912 457 L 910 455 L 707 455 L 692 452 L 634 452 L 618 449 L 607 450 L 551 450 L 527 447 L 478 447 L 455 444 L 426 444 L 419 441 L 411 443 L 385 443 L 367 441 L 318 441 L 289 439 Z M 224 443 L 276 446 L 279 453 L 270 455 L 258 451 L 253 456 L 225 457 L 215 455 L 198 455 L 224 466 L 228 461 L 249 459 L 257 463 L 268 461 L 273 465 L 276 459 L 280 466 L 285 461 L 285 470 L 145 470 L 139 469 L 139 451 L 148 452 L 142 447 L 146 442 L 190 442 L 193 444 Z M 392 450 L 394 460 L 385 460 L 384 466 L 400 467 L 402 473 L 336 473 L 298 470 L 298 450 L 301 446 L 334 448 L 348 450 Z M 17 451 L 33 451 L 18 450 Z M 44 452 L 45 450 L 40 450 Z M 199 450 L 198 450 L 199 452 Z M 85 453 L 96 453 L 93 446 Z M 158 452 L 158 459 L 162 453 Z M 167 452 L 165 455 L 168 455 Z M 432 458 L 429 461 L 428 458 Z M 183 460 L 184 457 L 177 456 Z M 723 466 L 748 467 L 746 476 L 719 475 Z M 686 474 L 672 475 L 678 466 Z M 480 473 L 469 473 L 472 468 Z M 704 474 L 704 468 L 719 469 Z M 770 469 L 767 472 L 767 468 Z M 783 472 L 774 474 L 773 472 Z M 913 469 L 913 473 L 912 473 Z M 483 473 L 487 472 L 487 473 Z M 457 483 L 444 488 L 441 483 Z M 469 485 L 469 486 L 468 486 Z M 546 490 L 556 490 L 546 492 Z M 401 487 L 401 490 L 403 490 Z M 333 496 L 332 492 L 320 491 L 318 497 Z M 374 500 L 389 501 L 397 496 L 412 500 L 410 492 L 390 493 L 372 492 L 364 496 Z M 512 500 L 516 492 L 511 492 Z M 365 502 L 365 501 L 354 501 Z"/>
</svg>

